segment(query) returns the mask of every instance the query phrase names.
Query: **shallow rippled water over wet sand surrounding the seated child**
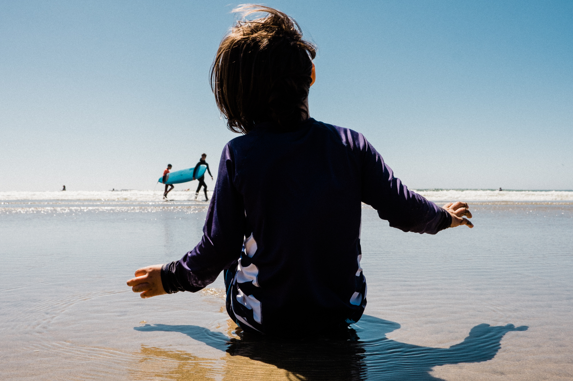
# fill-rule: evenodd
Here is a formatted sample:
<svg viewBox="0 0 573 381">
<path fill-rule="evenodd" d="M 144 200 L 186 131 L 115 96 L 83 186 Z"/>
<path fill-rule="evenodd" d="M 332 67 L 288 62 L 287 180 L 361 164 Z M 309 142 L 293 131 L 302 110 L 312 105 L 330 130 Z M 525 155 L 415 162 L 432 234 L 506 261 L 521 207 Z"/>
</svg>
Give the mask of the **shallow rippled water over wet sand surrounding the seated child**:
<svg viewBox="0 0 573 381">
<path fill-rule="evenodd" d="M 3 201 L 2 379 L 573 379 L 572 203 L 478 203 L 474 229 L 435 236 L 389 228 L 365 207 L 366 316 L 294 342 L 296 327 L 284 340 L 241 335 L 220 278 L 146 300 L 125 286 L 136 268 L 193 248 L 205 209 Z"/>
</svg>

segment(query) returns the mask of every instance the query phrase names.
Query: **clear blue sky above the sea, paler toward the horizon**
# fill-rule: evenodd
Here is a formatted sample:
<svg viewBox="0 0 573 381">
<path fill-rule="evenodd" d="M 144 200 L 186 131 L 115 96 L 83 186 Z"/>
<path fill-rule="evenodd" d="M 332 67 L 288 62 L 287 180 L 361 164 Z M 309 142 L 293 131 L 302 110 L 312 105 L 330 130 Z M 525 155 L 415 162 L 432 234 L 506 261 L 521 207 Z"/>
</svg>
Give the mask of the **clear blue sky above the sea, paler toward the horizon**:
<svg viewBox="0 0 573 381">
<path fill-rule="evenodd" d="M 0 190 L 154 189 L 203 152 L 216 172 L 236 135 L 208 73 L 237 4 L 0 2 Z M 573 2 L 266 5 L 319 47 L 311 116 L 410 188 L 573 189 Z"/>
</svg>

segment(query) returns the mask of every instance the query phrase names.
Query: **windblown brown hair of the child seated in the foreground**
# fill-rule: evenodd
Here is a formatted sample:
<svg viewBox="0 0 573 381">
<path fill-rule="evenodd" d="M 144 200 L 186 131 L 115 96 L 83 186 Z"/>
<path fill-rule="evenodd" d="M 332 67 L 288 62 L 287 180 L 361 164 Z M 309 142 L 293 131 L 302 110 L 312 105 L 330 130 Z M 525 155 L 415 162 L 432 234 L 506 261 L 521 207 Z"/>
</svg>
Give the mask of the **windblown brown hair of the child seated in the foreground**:
<svg viewBox="0 0 573 381">
<path fill-rule="evenodd" d="M 248 133 L 260 122 L 289 130 L 308 118 L 315 46 L 304 41 L 294 19 L 276 9 L 244 5 L 211 67 L 211 89 L 227 127 Z M 247 20 L 252 13 L 268 15 Z"/>
</svg>

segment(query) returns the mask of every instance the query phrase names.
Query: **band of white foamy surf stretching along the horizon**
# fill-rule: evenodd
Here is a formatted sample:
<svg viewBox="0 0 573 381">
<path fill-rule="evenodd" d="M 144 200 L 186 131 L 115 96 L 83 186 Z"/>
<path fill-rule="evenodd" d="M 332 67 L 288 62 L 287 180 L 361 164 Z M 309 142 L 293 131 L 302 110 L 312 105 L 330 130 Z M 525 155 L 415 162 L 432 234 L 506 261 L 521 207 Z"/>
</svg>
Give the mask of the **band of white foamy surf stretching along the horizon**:
<svg viewBox="0 0 573 381">
<path fill-rule="evenodd" d="M 493 190 L 493 189 L 419 189 L 414 190 L 431 201 L 482 201 L 482 202 L 551 202 L 573 201 L 573 190 Z M 209 197 L 211 192 L 209 192 Z M 171 200 L 193 200 L 194 192 L 173 190 Z M 66 190 L 49 192 L 0 192 L 1 201 L 14 200 L 101 200 L 101 201 L 161 201 L 161 190 L 92 191 Z M 204 196 L 201 192 L 199 200 Z"/>
</svg>

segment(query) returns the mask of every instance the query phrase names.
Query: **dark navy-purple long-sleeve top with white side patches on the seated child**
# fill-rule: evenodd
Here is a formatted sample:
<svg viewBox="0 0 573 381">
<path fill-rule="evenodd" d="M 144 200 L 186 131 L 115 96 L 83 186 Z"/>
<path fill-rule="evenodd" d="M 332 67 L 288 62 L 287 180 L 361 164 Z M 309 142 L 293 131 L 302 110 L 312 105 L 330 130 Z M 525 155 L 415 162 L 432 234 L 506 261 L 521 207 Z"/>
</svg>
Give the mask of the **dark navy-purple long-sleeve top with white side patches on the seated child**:
<svg viewBox="0 0 573 381">
<path fill-rule="evenodd" d="M 408 190 L 358 132 L 313 118 L 292 132 L 268 127 L 225 145 L 201 242 L 163 266 L 163 287 L 199 291 L 238 262 L 241 322 L 265 332 L 344 321 L 366 299 L 356 292 L 361 203 L 405 232 L 435 234 L 452 217 Z"/>
</svg>

